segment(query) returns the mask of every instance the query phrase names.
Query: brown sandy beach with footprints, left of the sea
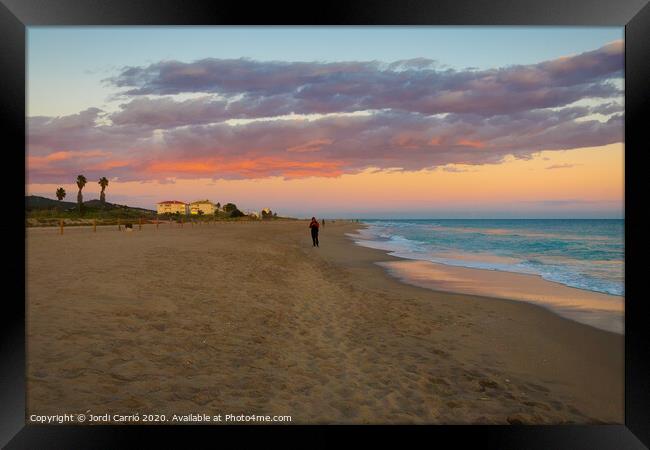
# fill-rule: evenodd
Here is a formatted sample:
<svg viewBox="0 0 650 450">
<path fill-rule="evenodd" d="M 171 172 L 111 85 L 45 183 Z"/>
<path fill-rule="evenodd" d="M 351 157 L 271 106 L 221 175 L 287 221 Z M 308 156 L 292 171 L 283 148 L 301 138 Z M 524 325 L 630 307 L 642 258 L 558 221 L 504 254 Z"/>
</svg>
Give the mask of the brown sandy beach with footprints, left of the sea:
<svg viewBox="0 0 650 450">
<path fill-rule="evenodd" d="M 26 230 L 27 414 L 623 422 L 622 335 L 400 282 L 360 226 Z"/>
</svg>

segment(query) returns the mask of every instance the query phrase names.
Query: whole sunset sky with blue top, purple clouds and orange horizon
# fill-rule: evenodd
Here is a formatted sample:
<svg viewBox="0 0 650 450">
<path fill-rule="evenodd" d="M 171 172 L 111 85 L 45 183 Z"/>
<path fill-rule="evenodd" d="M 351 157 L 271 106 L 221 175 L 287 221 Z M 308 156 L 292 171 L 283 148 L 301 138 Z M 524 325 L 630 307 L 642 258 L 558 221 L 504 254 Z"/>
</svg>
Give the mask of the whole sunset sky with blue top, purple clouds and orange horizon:
<svg viewBox="0 0 650 450">
<path fill-rule="evenodd" d="M 27 193 L 622 217 L 622 27 L 29 27 Z"/>
</svg>

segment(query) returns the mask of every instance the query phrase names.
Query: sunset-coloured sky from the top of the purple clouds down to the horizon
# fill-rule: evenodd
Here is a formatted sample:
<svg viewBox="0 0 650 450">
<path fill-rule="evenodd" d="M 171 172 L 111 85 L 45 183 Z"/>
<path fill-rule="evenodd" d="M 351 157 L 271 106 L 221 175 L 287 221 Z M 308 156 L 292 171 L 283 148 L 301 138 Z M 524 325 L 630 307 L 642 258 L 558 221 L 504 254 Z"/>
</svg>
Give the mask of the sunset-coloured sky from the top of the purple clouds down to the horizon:
<svg viewBox="0 0 650 450">
<path fill-rule="evenodd" d="M 104 104 L 30 115 L 27 191 L 74 191 L 84 174 L 144 208 L 620 217 L 623 48 L 448 70 L 423 57 L 128 64 L 102 79 Z"/>
</svg>

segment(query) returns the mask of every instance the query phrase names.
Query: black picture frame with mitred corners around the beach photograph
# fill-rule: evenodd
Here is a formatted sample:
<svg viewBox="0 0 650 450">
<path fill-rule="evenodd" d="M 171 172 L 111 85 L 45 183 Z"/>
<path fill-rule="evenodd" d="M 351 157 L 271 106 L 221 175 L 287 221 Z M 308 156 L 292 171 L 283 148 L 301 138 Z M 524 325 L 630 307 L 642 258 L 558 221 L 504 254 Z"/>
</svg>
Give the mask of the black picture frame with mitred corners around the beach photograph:
<svg viewBox="0 0 650 450">
<path fill-rule="evenodd" d="M 648 0 L 400 0 L 300 4 L 180 0 L 0 0 L 0 123 L 4 129 L 6 189 L 25 184 L 26 27 L 35 25 L 590 25 L 625 26 L 625 424 L 589 426 L 37 426 L 25 425 L 25 236 L 24 222 L 3 220 L 4 239 L 12 244 L 3 276 L 0 364 L 0 444 L 6 448 L 165 447 L 187 439 L 239 445 L 251 436 L 299 434 L 304 445 L 323 443 L 330 431 L 382 438 L 419 438 L 427 445 L 444 439 L 454 447 L 489 448 L 646 448 L 650 446 L 650 340 L 648 301 L 642 295 L 644 265 L 642 192 L 647 192 L 642 158 L 647 151 L 644 122 L 650 110 L 650 4 Z M 645 114 L 644 114 L 645 113 Z M 646 119 L 647 120 L 647 119 Z M 644 127 L 646 125 L 646 127 Z M 8 139 L 7 139 L 8 138 Z M 8 210 L 24 208 L 24 195 L 8 195 Z M 5 217 L 12 217 L 11 215 Z M 9 289 L 9 287 L 15 289 Z M 256 431 L 250 434 L 249 431 Z M 190 436 L 188 436 L 190 435 Z M 316 435 L 316 436 L 314 436 Z M 231 436 L 234 437 L 234 436 Z M 215 439 L 219 439 L 216 441 Z M 283 439 L 286 439 L 283 437 Z M 138 443 L 138 441 L 141 441 Z M 286 441 L 285 441 L 286 442 Z M 415 441 L 413 441 L 415 442 Z M 180 445 L 180 444 L 179 444 Z M 445 445 L 446 447 L 447 445 Z"/>
</svg>

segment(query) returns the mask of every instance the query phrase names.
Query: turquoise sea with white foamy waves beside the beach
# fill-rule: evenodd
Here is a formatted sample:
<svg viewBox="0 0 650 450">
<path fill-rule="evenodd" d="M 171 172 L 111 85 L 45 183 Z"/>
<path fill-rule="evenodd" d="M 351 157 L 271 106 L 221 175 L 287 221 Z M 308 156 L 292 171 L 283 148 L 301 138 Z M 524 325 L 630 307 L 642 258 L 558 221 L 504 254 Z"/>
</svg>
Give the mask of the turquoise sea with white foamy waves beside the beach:
<svg viewBox="0 0 650 450">
<path fill-rule="evenodd" d="M 537 274 L 624 295 L 623 219 L 364 220 L 357 243 L 455 266 Z"/>
</svg>

